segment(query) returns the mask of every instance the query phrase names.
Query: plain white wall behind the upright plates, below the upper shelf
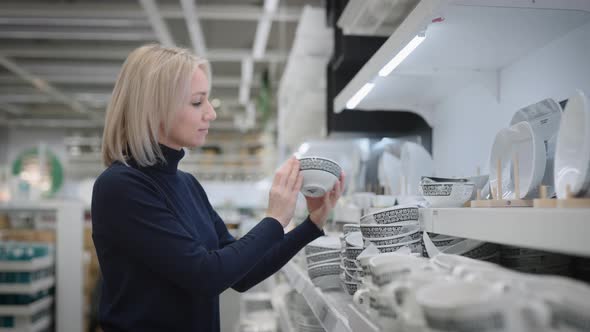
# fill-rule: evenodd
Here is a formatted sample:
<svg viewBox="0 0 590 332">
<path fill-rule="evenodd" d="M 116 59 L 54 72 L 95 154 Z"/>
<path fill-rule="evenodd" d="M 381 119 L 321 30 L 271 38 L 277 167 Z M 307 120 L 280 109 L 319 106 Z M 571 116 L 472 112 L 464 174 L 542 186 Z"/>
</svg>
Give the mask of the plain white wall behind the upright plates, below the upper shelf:
<svg viewBox="0 0 590 332">
<path fill-rule="evenodd" d="M 485 82 L 471 84 L 435 108 L 433 157 L 439 176 L 488 171 L 496 133 L 516 110 L 575 89 L 590 91 L 590 23 L 554 40 L 500 72 L 500 99 Z"/>
</svg>

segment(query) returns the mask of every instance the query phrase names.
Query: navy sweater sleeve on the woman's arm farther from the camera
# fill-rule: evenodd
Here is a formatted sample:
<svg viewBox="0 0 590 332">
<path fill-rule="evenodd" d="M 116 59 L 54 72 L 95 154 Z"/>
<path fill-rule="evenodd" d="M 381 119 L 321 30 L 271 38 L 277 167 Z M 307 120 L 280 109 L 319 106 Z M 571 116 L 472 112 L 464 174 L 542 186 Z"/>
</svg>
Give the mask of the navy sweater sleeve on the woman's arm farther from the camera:
<svg viewBox="0 0 590 332">
<path fill-rule="evenodd" d="M 219 237 L 219 245 L 221 247 L 232 245 L 236 240 L 231 234 L 229 234 L 225 223 L 221 217 L 219 217 L 217 212 L 215 212 L 209 203 L 209 200 L 206 199 L 205 191 L 198 182 L 197 186 L 201 190 L 202 195 L 205 196 L 207 209 L 209 210 L 209 214 L 215 224 L 215 230 Z M 262 255 L 262 260 L 256 263 L 254 268 L 244 277 L 233 284 L 232 288 L 239 292 L 247 291 L 259 282 L 276 273 L 305 245 L 322 235 L 324 235 L 324 231 L 320 230 L 308 217 L 303 223 L 287 233 L 285 237 L 280 242 L 276 243 L 268 252 L 264 253 Z"/>
</svg>

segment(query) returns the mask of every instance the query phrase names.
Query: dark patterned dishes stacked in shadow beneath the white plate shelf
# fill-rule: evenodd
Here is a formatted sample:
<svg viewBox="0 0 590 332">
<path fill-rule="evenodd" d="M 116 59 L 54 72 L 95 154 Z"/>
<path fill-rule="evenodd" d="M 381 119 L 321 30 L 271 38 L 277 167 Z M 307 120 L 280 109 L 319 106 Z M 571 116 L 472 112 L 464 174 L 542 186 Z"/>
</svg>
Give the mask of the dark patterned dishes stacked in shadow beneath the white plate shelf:
<svg viewBox="0 0 590 332">
<path fill-rule="evenodd" d="M 571 258 L 541 250 L 502 246 L 500 264 L 520 272 L 568 276 Z"/>
</svg>

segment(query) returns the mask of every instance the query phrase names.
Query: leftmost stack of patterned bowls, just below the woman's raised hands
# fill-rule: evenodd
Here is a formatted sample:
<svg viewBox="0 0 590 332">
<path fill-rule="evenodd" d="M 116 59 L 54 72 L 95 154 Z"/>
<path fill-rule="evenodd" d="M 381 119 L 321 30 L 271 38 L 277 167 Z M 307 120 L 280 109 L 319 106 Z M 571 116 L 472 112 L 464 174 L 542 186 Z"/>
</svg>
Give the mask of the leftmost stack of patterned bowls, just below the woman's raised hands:
<svg viewBox="0 0 590 332">
<path fill-rule="evenodd" d="M 305 246 L 307 273 L 317 287 L 339 287 L 340 248 L 340 239 L 335 236 L 322 236 Z"/>
</svg>

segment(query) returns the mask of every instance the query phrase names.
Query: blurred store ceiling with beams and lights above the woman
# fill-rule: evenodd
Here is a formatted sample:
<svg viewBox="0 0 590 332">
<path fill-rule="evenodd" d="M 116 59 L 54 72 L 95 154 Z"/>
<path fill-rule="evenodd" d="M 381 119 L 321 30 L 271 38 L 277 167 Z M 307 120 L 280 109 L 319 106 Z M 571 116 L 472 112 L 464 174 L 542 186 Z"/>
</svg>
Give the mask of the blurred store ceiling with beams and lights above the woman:
<svg viewBox="0 0 590 332">
<path fill-rule="evenodd" d="M 237 131 L 263 72 L 277 87 L 305 5 L 322 2 L 2 1 L 0 124 L 99 128 L 127 54 L 159 42 L 205 54 L 220 101 L 213 130 Z"/>
</svg>

